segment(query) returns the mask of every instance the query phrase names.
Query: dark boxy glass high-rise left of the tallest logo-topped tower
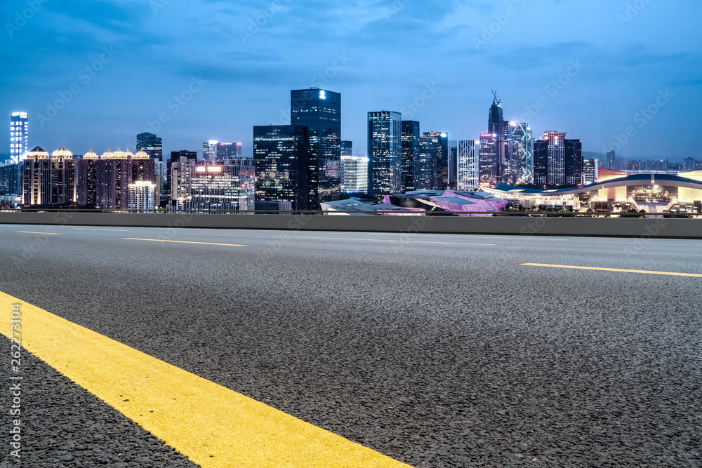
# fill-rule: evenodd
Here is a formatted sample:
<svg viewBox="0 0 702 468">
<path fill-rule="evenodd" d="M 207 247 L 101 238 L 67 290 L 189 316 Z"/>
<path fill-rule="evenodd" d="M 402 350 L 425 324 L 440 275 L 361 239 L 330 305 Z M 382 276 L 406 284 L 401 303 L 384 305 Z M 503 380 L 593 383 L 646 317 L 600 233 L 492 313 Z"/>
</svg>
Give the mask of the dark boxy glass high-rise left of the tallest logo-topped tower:
<svg viewBox="0 0 702 468">
<path fill-rule="evenodd" d="M 310 151 L 310 133 L 306 126 L 253 127 L 257 201 L 289 201 L 295 210 L 316 206 L 317 190 L 310 187 L 308 168 L 317 161 Z M 341 178 L 339 189 L 340 186 Z"/>
</svg>

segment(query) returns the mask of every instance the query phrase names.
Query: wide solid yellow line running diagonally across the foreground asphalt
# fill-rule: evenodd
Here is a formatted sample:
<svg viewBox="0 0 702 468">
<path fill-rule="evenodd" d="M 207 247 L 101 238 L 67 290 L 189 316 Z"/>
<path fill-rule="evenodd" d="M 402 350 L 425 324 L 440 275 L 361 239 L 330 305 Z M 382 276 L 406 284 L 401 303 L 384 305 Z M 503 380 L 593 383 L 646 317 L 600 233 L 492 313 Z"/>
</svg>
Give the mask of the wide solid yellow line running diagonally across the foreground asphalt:
<svg viewBox="0 0 702 468">
<path fill-rule="evenodd" d="M 13 304 L 22 347 L 203 468 L 409 467 L 0 293 L 7 337 Z"/>
</svg>

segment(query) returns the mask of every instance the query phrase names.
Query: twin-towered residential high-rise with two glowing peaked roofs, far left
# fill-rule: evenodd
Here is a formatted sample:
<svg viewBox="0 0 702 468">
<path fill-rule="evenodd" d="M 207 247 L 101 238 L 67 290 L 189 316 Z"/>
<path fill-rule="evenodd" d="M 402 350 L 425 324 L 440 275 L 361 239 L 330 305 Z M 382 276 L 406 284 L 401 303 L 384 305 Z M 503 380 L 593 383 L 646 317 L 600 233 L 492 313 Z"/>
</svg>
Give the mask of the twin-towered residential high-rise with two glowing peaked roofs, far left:
<svg viewBox="0 0 702 468">
<path fill-rule="evenodd" d="M 60 147 L 51 158 L 35 147 L 23 161 L 22 204 L 67 205 L 76 201 L 76 166 L 73 155 Z"/>
</svg>

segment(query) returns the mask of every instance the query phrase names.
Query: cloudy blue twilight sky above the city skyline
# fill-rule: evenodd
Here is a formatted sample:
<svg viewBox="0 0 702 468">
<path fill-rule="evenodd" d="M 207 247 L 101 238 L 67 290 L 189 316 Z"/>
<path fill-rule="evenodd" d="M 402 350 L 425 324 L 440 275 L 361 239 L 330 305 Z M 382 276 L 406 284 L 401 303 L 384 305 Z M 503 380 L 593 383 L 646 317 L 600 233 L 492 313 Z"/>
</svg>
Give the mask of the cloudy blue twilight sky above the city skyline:
<svg viewBox="0 0 702 468">
<path fill-rule="evenodd" d="M 535 136 L 702 159 L 684 136 L 702 108 L 698 0 L 10 0 L 0 15 L 0 115 L 29 112 L 30 147 L 50 152 L 134 150 L 154 128 L 164 154 L 210 139 L 251 154 L 252 127 L 289 123 L 290 90 L 319 86 L 342 94 L 359 155 L 369 111 L 477 138 L 497 88 Z"/>
</svg>

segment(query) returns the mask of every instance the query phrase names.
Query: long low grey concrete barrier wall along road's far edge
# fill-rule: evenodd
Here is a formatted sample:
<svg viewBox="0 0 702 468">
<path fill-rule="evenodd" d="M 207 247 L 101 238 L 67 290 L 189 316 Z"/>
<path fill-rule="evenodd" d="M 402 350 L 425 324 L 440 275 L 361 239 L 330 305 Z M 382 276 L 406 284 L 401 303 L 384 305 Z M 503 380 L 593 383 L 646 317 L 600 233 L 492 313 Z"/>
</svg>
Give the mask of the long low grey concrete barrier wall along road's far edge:
<svg viewBox="0 0 702 468">
<path fill-rule="evenodd" d="M 0 224 L 702 239 L 702 220 L 672 218 L 0 213 Z"/>
</svg>

